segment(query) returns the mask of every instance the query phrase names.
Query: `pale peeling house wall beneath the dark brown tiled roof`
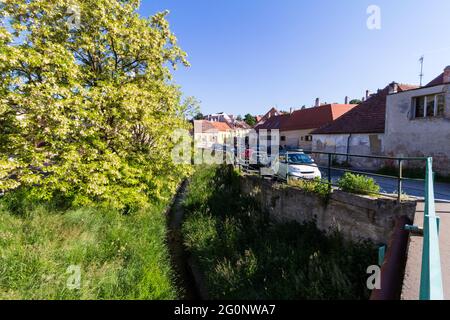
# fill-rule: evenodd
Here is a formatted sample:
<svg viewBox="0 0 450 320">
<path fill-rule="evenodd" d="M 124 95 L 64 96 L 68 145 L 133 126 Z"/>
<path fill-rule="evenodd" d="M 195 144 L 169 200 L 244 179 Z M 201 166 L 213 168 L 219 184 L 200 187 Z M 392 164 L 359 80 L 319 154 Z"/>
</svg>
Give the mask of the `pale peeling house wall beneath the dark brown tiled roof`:
<svg viewBox="0 0 450 320">
<path fill-rule="evenodd" d="M 317 134 L 313 135 L 312 150 L 357 155 L 383 155 L 384 134 Z M 347 147 L 348 146 L 348 147 Z M 326 156 L 320 157 L 327 161 Z M 347 157 L 337 157 L 339 163 L 347 162 Z M 384 166 L 384 160 L 349 157 L 348 162 L 355 168 L 376 170 Z"/>
</svg>

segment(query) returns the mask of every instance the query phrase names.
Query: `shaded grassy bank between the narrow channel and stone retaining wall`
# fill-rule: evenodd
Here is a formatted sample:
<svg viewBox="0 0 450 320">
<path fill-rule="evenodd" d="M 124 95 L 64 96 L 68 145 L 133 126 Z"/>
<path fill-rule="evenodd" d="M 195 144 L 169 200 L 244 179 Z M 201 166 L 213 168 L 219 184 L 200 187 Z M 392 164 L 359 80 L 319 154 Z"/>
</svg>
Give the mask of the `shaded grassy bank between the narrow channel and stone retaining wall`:
<svg viewBox="0 0 450 320">
<path fill-rule="evenodd" d="M 242 195 L 236 174 L 197 170 L 185 201 L 187 248 L 214 299 L 367 299 L 369 243 L 325 235 L 314 223 L 273 223 Z"/>
</svg>

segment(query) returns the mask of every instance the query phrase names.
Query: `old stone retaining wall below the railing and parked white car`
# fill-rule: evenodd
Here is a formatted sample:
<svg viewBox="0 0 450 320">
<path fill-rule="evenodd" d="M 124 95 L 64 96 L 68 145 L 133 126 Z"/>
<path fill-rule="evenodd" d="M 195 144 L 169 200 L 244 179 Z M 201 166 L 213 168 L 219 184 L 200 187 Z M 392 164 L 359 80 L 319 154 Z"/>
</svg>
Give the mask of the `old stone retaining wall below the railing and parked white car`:
<svg viewBox="0 0 450 320">
<path fill-rule="evenodd" d="M 282 186 L 256 176 L 241 179 L 242 192 L 254 196 L 277 221 L 299 223 L 316 220 L 323 231 L 338 229 L 346 238 L 374 243 L 388 243 L 395 219 L 408 216 L 413 220 L 415 202 L 401 205 L 392 199 L 373 199 L 341 191 L 333 192 L 326 205 L 315 194 Z"/>
</svg>

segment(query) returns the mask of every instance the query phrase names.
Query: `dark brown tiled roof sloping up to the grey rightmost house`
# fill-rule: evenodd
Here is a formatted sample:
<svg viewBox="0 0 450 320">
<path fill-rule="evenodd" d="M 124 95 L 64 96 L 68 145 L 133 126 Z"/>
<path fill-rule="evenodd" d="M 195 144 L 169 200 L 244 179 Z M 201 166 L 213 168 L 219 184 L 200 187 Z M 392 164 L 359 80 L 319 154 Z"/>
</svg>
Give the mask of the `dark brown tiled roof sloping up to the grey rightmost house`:
<svg viewBox="0 0 450 320">
<path fill-rule="evenodd" d="M 398 85 L 399 92 L 415 88 L 417 86 Z M 313 131 L 312 134 L 384 133 L 386 97 L 388 94 L 389 86 L 373 94 L 369 99 L 339 119 Z"/>
</svg>

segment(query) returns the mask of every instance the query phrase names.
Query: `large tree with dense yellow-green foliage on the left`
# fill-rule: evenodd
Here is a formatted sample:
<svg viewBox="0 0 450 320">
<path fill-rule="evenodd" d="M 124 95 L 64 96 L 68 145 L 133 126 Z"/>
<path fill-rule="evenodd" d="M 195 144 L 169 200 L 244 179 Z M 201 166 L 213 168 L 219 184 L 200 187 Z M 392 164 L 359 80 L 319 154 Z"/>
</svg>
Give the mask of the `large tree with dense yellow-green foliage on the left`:
<svg viewBox="0 0 450 320">
<path fill-rule="evenodd" d="M 128 211 L 188 172 L 172 163 L 170 138 L 188 128 L 170 73 L 186 54 L 167 12 L 144 19 L 139 4 L 0 3 L 0 191 Z"/>
</svg>

